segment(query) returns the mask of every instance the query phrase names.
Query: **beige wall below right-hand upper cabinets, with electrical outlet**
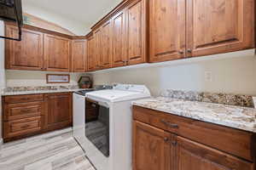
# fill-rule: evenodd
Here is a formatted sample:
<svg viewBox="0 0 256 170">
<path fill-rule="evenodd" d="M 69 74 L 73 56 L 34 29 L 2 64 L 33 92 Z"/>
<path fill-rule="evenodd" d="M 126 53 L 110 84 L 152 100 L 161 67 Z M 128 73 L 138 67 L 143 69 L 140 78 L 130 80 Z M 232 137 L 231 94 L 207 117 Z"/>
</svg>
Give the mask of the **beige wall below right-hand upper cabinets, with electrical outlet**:
<svg viewBox="0 0 256 170">
<path fill-rule="evenodd" d="M 254 50 L 168 62 L 145 68 L 103 71 L 94 74 L 96 84 L 145 84 L 152 94 L 172 88 L 231 94 L 256 95 Z M 209 72 L 212 78 L 207 78 Z"/>
</svg>

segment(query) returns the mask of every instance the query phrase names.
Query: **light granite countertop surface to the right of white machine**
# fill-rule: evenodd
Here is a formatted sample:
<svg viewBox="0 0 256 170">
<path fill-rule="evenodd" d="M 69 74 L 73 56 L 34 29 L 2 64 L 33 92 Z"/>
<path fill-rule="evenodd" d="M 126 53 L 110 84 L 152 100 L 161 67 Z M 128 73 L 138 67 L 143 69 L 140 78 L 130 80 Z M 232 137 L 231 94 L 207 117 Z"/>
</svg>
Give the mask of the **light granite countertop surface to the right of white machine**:
<svg viewBox="0 0 256 170">
<path fill-rule="evenodd" d="M 253 108 L 168 97 L 141 99 L 132 105 L 256 133 L 256 109 Z"/>
</svg>

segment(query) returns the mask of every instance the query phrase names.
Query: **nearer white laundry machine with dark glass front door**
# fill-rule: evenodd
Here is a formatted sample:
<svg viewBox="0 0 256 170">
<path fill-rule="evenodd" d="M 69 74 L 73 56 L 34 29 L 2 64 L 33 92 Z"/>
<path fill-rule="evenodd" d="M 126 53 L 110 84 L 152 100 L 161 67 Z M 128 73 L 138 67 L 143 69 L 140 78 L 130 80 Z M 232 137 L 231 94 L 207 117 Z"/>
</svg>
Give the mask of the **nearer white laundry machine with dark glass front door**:
<svg viewBox="0 0 256 170">
<path fill-rule="evenodd" d="M 85 129 L 78 126 L 80 133 L 74 137 L 97 170 L 132 169 L 131 101 L 149 97 L 145 86 L 127 84 L 85 94 Z M 90 109 L 86 109 L 86 105 L 90 105 Z M 90 117 L 90 121 L 86 121 L 86 117 L 88 120 Z M 77 118 L 74 122 L 83 122 L 81 116 Z"/>
</svg>

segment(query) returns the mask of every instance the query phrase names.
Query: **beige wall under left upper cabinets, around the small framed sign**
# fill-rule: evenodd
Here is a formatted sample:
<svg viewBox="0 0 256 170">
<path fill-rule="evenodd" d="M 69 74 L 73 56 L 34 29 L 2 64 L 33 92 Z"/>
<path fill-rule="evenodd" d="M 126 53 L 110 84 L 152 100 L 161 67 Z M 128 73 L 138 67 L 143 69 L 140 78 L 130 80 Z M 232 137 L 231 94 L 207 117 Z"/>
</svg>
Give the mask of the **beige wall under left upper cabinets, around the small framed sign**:
<svg viewBox="0 0 256 170">
<path fill-rule="evenodd" d="M 79 81 L 80 73 L 61 73 L 46 71 L 5 71 L 7 87 L 20 86 L 59 86 L 59 85 L 75 85 Z M 69 74 L 70 83 L 46 83 L 46 74 Z"/>
</svg>

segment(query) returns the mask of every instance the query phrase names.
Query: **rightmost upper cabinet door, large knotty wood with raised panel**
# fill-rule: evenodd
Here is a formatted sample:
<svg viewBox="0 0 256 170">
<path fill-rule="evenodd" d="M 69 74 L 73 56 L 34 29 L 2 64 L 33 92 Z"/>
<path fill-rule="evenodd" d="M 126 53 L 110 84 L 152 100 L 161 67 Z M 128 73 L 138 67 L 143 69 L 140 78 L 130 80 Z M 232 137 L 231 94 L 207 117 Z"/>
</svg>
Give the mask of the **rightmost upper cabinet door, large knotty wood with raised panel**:
<svg viewBox="0 0 256 170">
<path fill-rule="evenodd" d="M 253 0 L 188 0 L 189 56 L 254 46 Z"/>
</svg>

